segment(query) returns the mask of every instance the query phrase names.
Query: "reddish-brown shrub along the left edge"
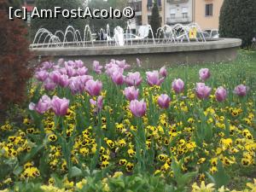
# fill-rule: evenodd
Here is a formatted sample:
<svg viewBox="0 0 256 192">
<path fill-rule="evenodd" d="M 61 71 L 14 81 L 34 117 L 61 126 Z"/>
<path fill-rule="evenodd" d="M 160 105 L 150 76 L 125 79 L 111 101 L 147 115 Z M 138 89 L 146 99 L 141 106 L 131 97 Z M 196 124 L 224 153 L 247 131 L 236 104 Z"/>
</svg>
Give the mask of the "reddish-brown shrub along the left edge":
<svg viewBox="0 0 256 192">
<path fill-rule="evenodd" d="M 30 52 L 26 27 L 21 20 L 9 20 L 7 1 L 0 0 L 0 109 L 26 98 L 26 81 L 32 76 L 28 67 Z"/>
</svg>

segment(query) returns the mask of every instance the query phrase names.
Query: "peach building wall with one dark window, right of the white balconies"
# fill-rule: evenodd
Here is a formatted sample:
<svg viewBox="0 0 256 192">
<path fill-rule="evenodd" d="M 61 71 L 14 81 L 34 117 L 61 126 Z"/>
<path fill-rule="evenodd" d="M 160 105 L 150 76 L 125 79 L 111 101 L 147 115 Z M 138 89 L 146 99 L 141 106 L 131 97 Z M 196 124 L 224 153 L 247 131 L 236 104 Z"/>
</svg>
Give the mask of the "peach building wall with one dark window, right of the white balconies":
<svg viewBox="0 0 256 192">
<path fill-rule="evenodd" d="M 218 17 L 224 0 L 193 0 L 193 21 L 202 30 L 218 29 Z"/>
</svg>

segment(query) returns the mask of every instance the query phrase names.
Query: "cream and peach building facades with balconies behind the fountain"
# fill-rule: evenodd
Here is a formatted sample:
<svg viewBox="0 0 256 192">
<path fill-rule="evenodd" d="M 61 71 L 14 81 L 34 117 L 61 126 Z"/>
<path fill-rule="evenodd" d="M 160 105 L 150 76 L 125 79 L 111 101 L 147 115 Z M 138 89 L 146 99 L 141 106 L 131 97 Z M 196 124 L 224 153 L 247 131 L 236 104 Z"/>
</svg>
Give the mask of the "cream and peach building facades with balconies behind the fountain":
<svg viewBox="0 0 256 192">
<path fill-rule="evenodd" d="M 161 25 L 197 23 L 202 30 L 218 29 L 218 17 L 224 0 L 155 0 L 160 10 Z M 131 28 L 150 23 L 154 0 L 130 0 L 135 10 Z"/>
</svg>

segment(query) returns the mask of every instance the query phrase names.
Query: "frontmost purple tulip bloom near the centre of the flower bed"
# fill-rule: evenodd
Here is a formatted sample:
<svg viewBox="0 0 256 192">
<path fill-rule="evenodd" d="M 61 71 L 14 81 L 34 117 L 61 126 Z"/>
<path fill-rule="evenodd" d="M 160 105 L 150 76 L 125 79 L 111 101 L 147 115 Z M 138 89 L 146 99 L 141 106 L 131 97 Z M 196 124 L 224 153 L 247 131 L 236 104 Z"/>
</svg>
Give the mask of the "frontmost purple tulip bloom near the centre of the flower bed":
<svg viewBox="0 0 256 192">
<path fill-rule="evenodd" d="M 129 108 L 134 116 L 143 117 L 147 110 L 147 104 L 143 100 L 140 102 L 137 100 L 132 100 Z"/>
</svg>

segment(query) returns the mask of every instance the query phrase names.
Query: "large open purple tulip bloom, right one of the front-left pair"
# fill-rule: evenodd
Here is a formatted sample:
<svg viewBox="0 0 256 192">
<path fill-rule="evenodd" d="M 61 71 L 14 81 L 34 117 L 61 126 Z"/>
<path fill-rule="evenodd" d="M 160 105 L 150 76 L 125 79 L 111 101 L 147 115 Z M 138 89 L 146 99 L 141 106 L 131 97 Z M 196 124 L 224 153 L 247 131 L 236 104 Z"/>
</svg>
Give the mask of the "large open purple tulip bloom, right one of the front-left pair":
<svg viewBox="0 0 256 192">
<path fill-rule="evenodd" d="M 64 98 L 59 98 L 58 96 L 53 96 L 51 100 L 51 108 L 55 115 L 63 116 L 67 114 L 67 108 L 69 105 L 69 100 Z"/>
</svg>

